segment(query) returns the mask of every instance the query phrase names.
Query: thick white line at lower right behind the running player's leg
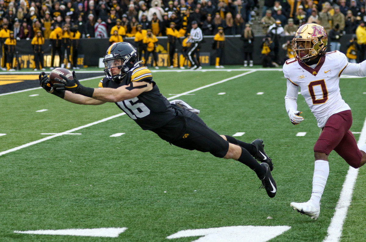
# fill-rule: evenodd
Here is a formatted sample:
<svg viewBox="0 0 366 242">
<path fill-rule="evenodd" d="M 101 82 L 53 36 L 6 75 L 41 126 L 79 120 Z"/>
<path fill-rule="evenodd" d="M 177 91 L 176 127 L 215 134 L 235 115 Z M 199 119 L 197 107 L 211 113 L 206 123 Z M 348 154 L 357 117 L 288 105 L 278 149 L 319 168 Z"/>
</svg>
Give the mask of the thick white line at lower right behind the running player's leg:
<svg viewBox="0 0 366 242">
<path fill-rule="evenodd" d="M 360 138 L 357 145 L 360 147 L 366 143 L 366 119 L 363 123 Z M 336 211 L 333 218 L 330 220 L 327 235 L 323 242 L 335 242 L 340 241 L 340 237 L 343 231 L 344 220 L 347 217 L 348 207 L 351 205 L 352 193 L 355 187 L 356 179 L 358 176 L 358 169 L 350 166 L 347 172 L 346 180 L 343 183 L 342 191 L 339 196 L 339 200 L 336 205 Z"/>
</svg>

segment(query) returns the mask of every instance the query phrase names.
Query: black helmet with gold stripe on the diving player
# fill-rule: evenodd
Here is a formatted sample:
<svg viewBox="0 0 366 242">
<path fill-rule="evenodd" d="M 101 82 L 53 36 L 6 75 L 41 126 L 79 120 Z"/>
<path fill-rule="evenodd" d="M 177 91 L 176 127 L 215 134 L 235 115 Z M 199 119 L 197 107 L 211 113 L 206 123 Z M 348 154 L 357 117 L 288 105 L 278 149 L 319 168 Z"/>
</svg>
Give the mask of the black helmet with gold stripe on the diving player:
<svg viewBox="0 0 366 242">
<path fill-rule="evenodd" d="M 121 65 L 118 66 L 120 72 L 113 76 L 111 69 L 115 67 L 113 64 L 116 59 L 120 59 L 121 61 Z M 129 70 L 137 66 L 140 62 L 142 61 L 138 61 L 138 53 L 134 46 L 127 42 L 116 42 L 109 46 L 103 59 L 105 66 L 104 74 L 113 81 L 120 81 L 126 76 Z"/>
</svg>

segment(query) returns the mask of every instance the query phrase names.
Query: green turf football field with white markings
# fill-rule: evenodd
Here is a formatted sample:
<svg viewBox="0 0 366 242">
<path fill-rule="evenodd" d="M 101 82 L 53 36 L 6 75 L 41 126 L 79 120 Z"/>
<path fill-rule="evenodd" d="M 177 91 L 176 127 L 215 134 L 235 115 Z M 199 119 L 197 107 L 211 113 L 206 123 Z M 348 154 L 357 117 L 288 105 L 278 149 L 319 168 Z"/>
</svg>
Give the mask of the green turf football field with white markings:
<svg viewBox="0 0 366 242">
<path fill-rule="evenodd" d="M 263 139 L 276 196 L 240 162 L 171 146 L 113 103 L 32 89 L 0 95 L 0 241 L 365 241 L 365 168 L 349 169 L 334 151 L 319 218 L 290 207 L 310 198 L 320 129 L 301 95 L 305 120 L 291 124 L 281 69 L 154 70 L 153 79 L 219 134 Z M 340 81 L 359 144 L 365 80 Z"/>
</svg>

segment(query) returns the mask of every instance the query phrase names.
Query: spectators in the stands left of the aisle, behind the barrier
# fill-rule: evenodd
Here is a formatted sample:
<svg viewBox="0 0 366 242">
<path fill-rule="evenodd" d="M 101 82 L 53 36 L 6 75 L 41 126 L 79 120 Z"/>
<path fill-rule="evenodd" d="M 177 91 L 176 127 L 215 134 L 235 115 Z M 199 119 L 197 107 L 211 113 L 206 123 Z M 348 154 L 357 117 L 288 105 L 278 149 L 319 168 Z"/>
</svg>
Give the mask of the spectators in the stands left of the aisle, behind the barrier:
<svg viewBox="0 0 366 242">
<path fill-rule="evenodd" d="M 31 39 L 37 31 L 49 39 L 58 27 L 76 27 L 81 38 L 109 38 L 113 27 L 119 35 L 134 37 L 137 26 L 165 36 L 174 22 L 180 37 L 197 21 L 204 35 L 223 27 L 227 35 L 242 34 L 258 0 L 0 0 L 1 28 L 14 31 L 14 38 Z"/>
</svg>

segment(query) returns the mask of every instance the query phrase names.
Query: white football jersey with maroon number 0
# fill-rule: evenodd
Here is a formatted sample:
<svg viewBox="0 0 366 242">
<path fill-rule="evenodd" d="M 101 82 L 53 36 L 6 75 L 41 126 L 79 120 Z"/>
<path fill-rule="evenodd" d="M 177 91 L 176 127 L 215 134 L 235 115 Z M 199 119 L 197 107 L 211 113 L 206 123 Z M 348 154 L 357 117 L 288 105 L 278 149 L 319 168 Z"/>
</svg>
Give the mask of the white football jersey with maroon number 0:
<svg viewBox="0 0 366 242">
<path fill-rule="evenodd" d="M 340 75 L 347 65 L 346 55 L 339 51 L 326 53 L 314 69 L 295 58 L 288 59 L 283 65 L 284 76 L 300 88 L 319 127 L 324 127 L 331 115 L 351 109 L 342 99 L 339 89 Z M 287 93 L 285 99 L 297 99 L 297 93 L 296 96 L 288 96 Z"/>
</svg>

